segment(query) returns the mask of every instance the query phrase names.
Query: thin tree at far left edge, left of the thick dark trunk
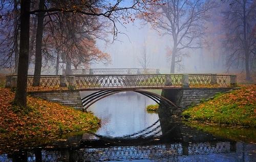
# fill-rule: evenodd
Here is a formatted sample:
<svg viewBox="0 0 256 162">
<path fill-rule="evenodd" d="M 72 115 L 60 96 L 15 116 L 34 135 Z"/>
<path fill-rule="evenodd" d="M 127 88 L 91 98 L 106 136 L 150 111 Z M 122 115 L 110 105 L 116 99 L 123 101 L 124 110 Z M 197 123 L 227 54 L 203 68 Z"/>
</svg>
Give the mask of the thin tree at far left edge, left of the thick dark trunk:
<svg viewBox="0 0 256 162">
<path fill-rule="evenodd" d="M 19 2 L 17 0 L 0 1 L 0 66 L 18 70 L 19 50 Z"/>
</svg>

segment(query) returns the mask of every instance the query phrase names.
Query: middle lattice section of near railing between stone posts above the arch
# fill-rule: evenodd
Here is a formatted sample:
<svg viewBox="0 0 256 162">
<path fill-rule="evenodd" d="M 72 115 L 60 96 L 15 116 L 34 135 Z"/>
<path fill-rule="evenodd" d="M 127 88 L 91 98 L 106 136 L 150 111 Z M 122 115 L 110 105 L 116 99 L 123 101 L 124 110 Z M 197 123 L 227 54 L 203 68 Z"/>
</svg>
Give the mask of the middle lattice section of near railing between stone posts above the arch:
<svg viewBox="0 0 256 162">
<path fill-rule="evenodd" d="M 182 75 L 76 75 L 75 87 L 136 88 L 181 86 Z"/>
</svg>

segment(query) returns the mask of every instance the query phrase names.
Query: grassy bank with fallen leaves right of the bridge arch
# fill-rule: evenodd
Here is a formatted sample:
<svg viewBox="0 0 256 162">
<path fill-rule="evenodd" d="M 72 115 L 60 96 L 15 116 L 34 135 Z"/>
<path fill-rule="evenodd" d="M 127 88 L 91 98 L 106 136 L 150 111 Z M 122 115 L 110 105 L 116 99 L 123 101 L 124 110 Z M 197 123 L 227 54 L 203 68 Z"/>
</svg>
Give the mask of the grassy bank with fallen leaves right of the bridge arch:
<svg viewBox="0 0 256 162">
<path fill-rule="evenodd" d="M 256 85 L 218 94 L 190 107 L 182 116 L 187 120 L 256 127 Z"/>
</svg>

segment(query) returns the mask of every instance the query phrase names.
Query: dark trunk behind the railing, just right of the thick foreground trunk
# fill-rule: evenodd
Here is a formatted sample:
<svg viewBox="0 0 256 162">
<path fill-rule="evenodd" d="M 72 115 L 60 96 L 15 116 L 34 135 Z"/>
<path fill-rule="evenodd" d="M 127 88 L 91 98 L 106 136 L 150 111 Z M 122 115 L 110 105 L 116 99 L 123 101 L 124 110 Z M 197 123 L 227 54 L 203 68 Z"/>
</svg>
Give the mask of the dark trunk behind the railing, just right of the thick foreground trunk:
<svg viewBox="0 0 256 162">
<path fill-rule="evenodd" d="M 45 8 L 45 0 L 39 1 L 39 10 Z M 35 42 L 35 70 L 33 86 L 40 85 L 40 75 L 42 68 L 42 32 L 44 30 L 45 12 L 39 12 L 37 17 L 36 42 Z"/>
</svg>

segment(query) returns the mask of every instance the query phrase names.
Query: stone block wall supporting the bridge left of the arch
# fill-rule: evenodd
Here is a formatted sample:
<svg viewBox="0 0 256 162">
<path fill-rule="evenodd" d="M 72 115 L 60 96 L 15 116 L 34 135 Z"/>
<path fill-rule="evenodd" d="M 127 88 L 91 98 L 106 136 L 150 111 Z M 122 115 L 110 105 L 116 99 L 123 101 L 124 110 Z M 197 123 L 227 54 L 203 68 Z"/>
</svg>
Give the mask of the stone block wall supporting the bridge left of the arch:
<svg viewBox="0 0 256 162">
<path fill-rule="evenodd" d="M 82 101 L 78 90 L 28 92 L 28 94 L 51 102 L 58 102 L 66 106 L 75 107 L 76 109 L 82 108 Z"/>
</svg>

